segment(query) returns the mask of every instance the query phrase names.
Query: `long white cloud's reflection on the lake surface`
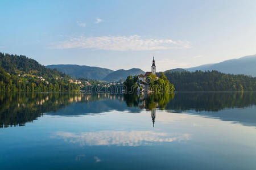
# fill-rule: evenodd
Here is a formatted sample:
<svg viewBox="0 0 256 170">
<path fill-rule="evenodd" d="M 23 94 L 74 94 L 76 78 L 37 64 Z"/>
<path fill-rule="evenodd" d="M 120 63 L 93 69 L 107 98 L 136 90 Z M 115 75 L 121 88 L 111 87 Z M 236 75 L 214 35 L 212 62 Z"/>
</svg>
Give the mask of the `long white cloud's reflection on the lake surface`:
<svg viewBox="0 0 256 170">
<path fill-rule="evenodd" d="M 57 138 L 63 138 L 69 143 L 80 146 L 141 146 L 151 145 L 154 142 L 187 141 L 189 134 L 171 135 L 168 133 L 157 133 L 154 131 L 96 131 L 83 133 L 70 133 L 57 131 L 54 134 Z"/>
</svg>

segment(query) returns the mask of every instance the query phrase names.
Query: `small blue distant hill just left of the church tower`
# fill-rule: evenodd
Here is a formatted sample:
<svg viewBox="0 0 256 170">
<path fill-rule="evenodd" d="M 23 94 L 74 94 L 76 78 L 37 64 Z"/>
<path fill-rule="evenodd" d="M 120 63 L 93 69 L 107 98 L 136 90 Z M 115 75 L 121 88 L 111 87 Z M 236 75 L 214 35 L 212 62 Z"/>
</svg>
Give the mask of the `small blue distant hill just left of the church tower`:
<svg viewBox="0 0 256 170">
<path fill-rule="evenodd" d="M 141 69 L 135 69 L 135 68 L 130 70 L 121 69 L 121 70 L 114 71 L 113 73 L 110 73 L 104 78 L 104 80 L 108 80 L 108 81 L 120 80 L 120 79 L 125 80 L 129 75 L 139 75 L 139 74 L 145 74 L 145 72 L 142 71 Z"/>
</svg>

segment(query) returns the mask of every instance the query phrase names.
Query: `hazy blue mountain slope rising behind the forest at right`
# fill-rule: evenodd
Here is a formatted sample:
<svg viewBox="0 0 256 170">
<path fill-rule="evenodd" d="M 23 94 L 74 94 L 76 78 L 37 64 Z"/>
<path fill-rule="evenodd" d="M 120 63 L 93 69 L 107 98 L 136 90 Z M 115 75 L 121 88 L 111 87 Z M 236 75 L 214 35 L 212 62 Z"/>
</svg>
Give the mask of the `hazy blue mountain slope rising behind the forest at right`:
<svg viewBox="0 0 256 170">
<path fill-rule="evenodd" d="M 238 59 L 229 59 L 220 63 L 192 67 L 186 70 L 188 71 L 217 70 L 222 73 L 245 74 L 245 75 L 256 76 L 256 54 L 253 56 L 245 56 Z"/>
</svg>

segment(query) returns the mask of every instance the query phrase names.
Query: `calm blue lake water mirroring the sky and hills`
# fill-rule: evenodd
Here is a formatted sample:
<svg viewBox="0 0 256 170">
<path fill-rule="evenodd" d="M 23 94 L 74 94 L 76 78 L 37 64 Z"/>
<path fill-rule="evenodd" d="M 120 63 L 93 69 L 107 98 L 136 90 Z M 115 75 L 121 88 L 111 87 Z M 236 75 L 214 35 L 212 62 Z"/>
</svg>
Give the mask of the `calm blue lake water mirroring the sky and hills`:
<svg viewBox="0 0 256 170">
<path fill-rule="evenodd" d="M 256 93 L 1 94 L 0 169 L 256 169 Z"/>
</svg>

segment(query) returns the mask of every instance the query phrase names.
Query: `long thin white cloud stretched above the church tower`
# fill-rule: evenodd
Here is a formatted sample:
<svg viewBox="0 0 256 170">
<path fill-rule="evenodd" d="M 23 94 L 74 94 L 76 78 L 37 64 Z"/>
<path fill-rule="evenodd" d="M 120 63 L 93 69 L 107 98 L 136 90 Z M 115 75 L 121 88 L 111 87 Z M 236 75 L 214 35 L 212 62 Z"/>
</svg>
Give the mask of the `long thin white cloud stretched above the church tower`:
<svg viewBox="0 0 256 170">
<path fill-rule="evenodd" d="M 102 37 L 72 37 L 61 41 L 50 48 L 53 49 L 100 49 L 100 50 L 164 50 L 174 48 L 190 48 L 189 41 L 174 41 L 171 39 L 146 39 L 133 36 L 102 36 Z"/>
</svg>

